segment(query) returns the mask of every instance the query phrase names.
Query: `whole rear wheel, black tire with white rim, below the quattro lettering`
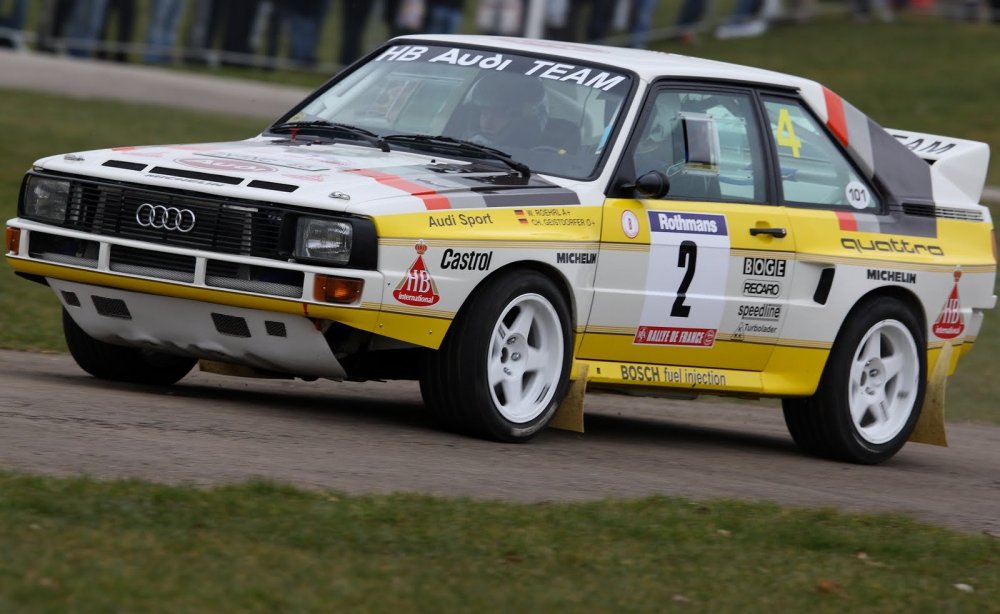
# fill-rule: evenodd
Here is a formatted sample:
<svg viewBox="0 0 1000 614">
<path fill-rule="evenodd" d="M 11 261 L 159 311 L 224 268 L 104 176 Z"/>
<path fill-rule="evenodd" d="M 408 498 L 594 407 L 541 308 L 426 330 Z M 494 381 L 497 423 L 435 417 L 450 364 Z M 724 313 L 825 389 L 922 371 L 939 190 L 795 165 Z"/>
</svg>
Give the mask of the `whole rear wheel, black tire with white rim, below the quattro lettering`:
<svg viewBox="0 0 1000 614">
<path fill-rule="evenodd" d="M 884 462 L 906 443 L 923 406 L 923 327 L 893 297 L 857 306 L 837 336 L 816 394 L 783 402 L 785 424 L 805 452 Z"/>
</svg>

